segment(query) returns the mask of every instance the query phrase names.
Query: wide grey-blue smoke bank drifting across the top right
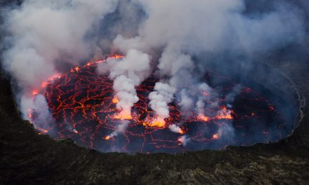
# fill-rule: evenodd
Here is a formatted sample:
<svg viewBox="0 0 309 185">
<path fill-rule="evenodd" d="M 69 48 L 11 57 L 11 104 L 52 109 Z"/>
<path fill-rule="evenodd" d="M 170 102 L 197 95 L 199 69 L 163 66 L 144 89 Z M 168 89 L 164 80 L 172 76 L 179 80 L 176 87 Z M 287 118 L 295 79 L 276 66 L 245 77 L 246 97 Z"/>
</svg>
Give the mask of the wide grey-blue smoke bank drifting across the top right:
<svg viewBox="0 0 309 185">
<path fill-rule="evenodd" d="M 142 40 L 148 47 L 173 45 L 174 51 L 189 53 L 253 53 L 300 41 L 303 36 L 301 12 L 283 3 L 277 4 L 275 11 L 251 17 L 242 14 L 244 1 L 237 0 L 151 0 L 140 4 L 148 18 L 135 41 Z"/>
</svg>

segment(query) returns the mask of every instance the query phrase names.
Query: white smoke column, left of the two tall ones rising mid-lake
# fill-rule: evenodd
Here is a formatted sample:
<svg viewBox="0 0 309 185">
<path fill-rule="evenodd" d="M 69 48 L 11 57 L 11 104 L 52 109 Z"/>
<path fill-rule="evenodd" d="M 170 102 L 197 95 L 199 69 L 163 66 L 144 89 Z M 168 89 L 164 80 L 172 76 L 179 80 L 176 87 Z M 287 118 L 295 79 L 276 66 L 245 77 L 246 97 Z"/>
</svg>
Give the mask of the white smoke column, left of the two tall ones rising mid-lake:
<svg viewBox="0 0 309 185">
<path fill-rule="evenodd" d="M 114 91 L 119 99 L 117 108 L 121 110 L 123 118 L 131 116 L 131 107 L 138 102 L 135 87 L 150 74 L 150 57 L 138 50 L 129 50 L 126 57 L 117 61 L 107 60 L 98 66 L 98 72 L 106 74 L 110 72 L 110 78 L 114 79 Z"/>
</svg>

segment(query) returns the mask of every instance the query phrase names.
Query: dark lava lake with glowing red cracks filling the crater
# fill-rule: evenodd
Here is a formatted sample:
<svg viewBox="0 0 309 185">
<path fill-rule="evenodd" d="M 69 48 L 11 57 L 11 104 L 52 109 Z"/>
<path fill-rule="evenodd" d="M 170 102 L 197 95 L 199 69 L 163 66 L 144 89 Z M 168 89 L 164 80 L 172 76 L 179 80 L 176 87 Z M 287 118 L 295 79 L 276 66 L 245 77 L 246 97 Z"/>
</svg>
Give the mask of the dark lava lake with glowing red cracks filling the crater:
<svg viewBox="0 0 309 185">
<path fill-rule="evenodd" d="M 182 114 L 176 98 L 169 104 L 170 116 L 164 125 L 152 125 L 155 114 L 148 106 L 148 95 L 159 81 L 152 74 L 136 87 L 139 101 L 131 118 L 119 118 L 112 80 L 96 73 L 100 62 L 74 67 L 47 81 L 46 90 L 36 93 L 34 100 L 44 95 L 51 117 L 46 119 L 40 111 L 32 110 L 34 128 L 55 139 L 70 138 L 79 146 L 103 152 L 178 153 L 275 142 L 291 134 L 300 116 L 293 83 L 259 63 L 241 75 L 232 70 L 206 72 L 204 81 L 218 95 L 207 99 L 206 104 L 216 102 L 216 106 L 205 107 L 202 117 L 193 111 Z M 227 102 L 235 87 L 237 95 Z"/>
</svg>

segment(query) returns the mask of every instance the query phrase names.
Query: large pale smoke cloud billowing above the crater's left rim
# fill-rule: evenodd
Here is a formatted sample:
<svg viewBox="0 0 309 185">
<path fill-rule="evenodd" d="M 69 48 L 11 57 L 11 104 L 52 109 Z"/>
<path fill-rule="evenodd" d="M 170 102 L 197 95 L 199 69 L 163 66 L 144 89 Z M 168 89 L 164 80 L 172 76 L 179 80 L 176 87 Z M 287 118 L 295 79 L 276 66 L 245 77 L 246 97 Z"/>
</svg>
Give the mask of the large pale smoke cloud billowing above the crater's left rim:
<svg viewBox="0 0 309 185">
<path fill-rule="evenodd" d="M 18 100 L 22 114 L 32 108 L 31 90 L 57 73 L 64 62 L 77 64 L 96 48 L 93 27 L 117 1 L 24 1 L 20 8 L 4 11 L 4 25 L 9 36 L 2 55 L 2 67 L 23 89 Z M 60 64 L 59 64 L 60 62 Z M 22 96 L 22 98 L 20 98 Z"/>
</svg>

